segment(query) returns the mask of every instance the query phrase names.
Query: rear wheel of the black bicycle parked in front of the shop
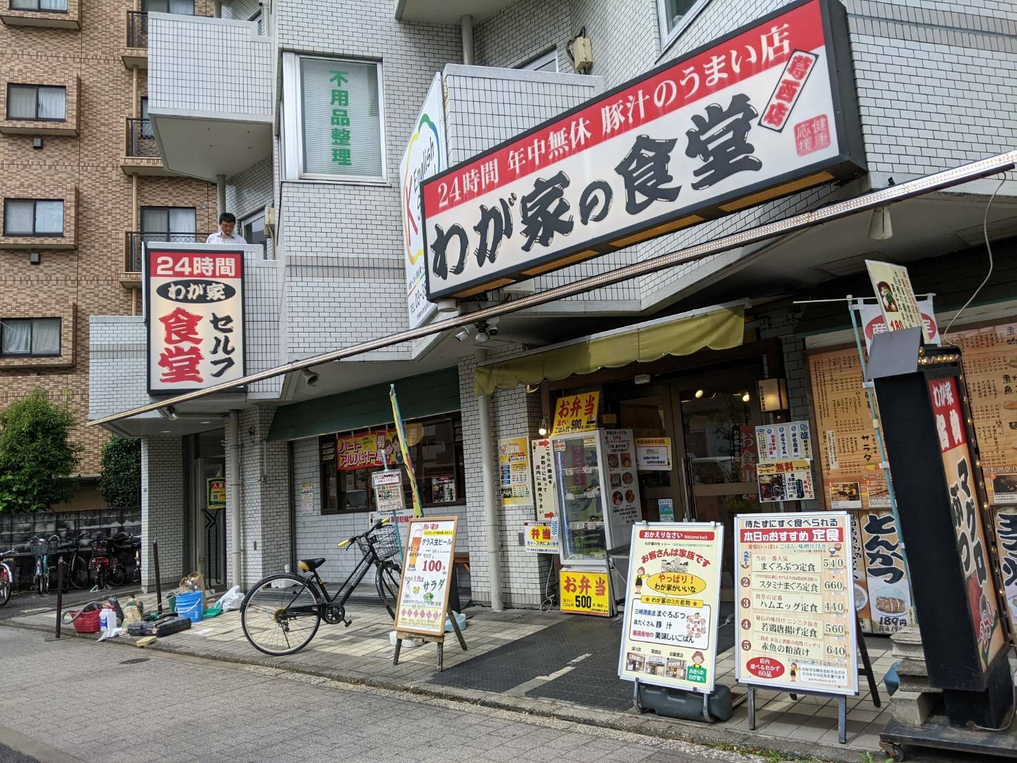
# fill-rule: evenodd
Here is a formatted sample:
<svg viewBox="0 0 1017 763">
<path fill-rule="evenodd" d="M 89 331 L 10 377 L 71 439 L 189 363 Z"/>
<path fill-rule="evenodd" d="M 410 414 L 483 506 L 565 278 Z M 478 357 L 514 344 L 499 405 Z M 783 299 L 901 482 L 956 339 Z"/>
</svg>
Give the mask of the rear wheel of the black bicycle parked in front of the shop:
<svg viewBox="0 0 1017 763">
<path fill-rule="evenodd" d="M 283 587 L 279 587 L 286 581 Z M 277 585 L 274 586 L 273 583 Z M 240 604 L 240 625 L 251 646 L 273 657 L 299 652 L 321 625 L 321 597 L 299 575 L 262 578 Z"/>
</svg>

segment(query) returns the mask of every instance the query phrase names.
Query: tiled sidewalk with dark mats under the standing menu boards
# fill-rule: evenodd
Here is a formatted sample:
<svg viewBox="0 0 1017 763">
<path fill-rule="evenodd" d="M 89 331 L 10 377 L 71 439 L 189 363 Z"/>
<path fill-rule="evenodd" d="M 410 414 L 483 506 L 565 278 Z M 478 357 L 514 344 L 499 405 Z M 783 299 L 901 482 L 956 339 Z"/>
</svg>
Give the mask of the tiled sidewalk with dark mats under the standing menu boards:
<svg viewBox="0 0 1017 763">
<path fill-rule="evenodd" d="M 145 597 L 153 599 L 154 597 Z M 40 606 L 36 599 L 33 603 Z M 54 602 L 55 603 L 55 602 Z M 437 672 L 435 647 L 425 644 L 404 649 L 393 665 L 388 641 L 392 621 L 384 609 L 351 604 L 353 625 L 322 622 L 314 640 L 303 651 L 273 658 L 256 651 L 244 638 L 239 612 L 227 612 L 195 624 L 189 631 L 161 639 L 152 649 L 231 662 L 282 667 L 356 684 L 458 699 L 474 704 L 553 716 L 657 737 L 723 746 L 774 750 L 793 759 L 821 758 L 857 762 L 861 753 L 879 755 L 879 732 L 889 721 L 890 698 L 882 677 L 889 668 L 890 641 L 869 638 L 869 652 L 880 682 L 882 708 L 868 691 L 848 699 L 847 745 L 837 743 L 836 701 L 758 692 L 758 727 L 749 730 L 744 704 L 723 723 L 706 724 L 664 718 L 633 709 L 633 685 L 616 678 L 620 621 L 511 609 L 492 612 L 467 609 L 464 631 L 468 651 L 450 634 L 444 648 L 444 670 Z M 6 624 L 52 631 L 55 612 L 21 612 Z M 67 634 L 72 629 L 64 629 Z M 94 637 L 84 637 L 94 638 Z M 132 644 L 121 637 L 114 644 Z M 718 683 L 743 693 L 734 683 L 733 650 L 721 655 Z M 859 680 L 864 690 L 864 680 Z"/>
</svg>

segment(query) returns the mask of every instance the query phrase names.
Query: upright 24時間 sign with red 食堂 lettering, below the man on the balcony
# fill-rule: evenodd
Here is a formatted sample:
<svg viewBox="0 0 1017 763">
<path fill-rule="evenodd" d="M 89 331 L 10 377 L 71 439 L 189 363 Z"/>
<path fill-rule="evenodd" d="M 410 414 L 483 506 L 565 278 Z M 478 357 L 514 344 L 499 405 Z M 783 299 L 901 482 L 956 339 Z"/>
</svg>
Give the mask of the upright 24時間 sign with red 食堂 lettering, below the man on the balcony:
<svg viewBox="0 0 1017 763">
<path fill-rule="evenodd" d="M 183 393 L 244 375 L 244 252 L 146 248 L 148 393 Z"/>
</svg>

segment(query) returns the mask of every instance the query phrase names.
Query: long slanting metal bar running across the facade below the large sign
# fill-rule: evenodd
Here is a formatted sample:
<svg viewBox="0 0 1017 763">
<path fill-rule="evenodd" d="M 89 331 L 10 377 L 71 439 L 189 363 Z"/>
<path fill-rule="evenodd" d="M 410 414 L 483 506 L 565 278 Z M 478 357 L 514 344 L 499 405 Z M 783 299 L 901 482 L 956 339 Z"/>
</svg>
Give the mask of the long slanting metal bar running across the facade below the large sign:
<svg viewBox="0 0 1017 763">
<path fill-rule="evenodd" d="M 887 203 L 902 201 L 905 198 L 921 196 L 926 193 L 932 193 L 933 191 L 952 188 L 955 185 L 961 185 L 962 183 L 966 183 L 971 180 L 988 177 L 989 175 L 996 175 L 1000 172 L 1013 169 L 1015 163 L 1017 163 L 1017 151 L 1008 152 L 1007 154 L 999 154 L 997 156 L 990 157 L 989 159 L 982 159 L 978 162 L 961 165 L 960 167 L 955 167 L 952 170 L 939 172 L 935 175 L 918 178 L 917 180 L 909 180 L 906 183 L 898 183 L 897 185 L 893 185 L 889 188 L 883 188 L 882 190 L 866 193 L 863 196 L 849 198 L 846 201 L 837 201 L 835 203 L 827 204 L 826 207 L 821 207 L 818 210 L 804 212 L 800 215 L 794 215 L 792 217 L 778 220 L 773 223 L 767 223 L 766 225 L 760 225 L 755 228 L 749 228 L 747 230 L 733 233 L 729 236 L 721 236 L 720 238 L 707 241 L 706 243 L 697 244 L 696 246 L 690 246 L 684 249 L 676 249 L 668 252 L 667 254 L 661 254 L 660 256 L 634 262 L 633 265 L 608 271 L 607 273 L 591 276 L 590 278 L 585 278 L 581 281 L 576 281 L 575 283 L 557 286 L 553 289 L 547 289 L 546 291 L 531 294 L 526 297 L 520 297 L 519 299 L 502 302 L 493 307 L 485 307 L 482 310 L 464 313 L 462 315 L 457 315 L 456 317 L 446 318 L 445 320 L 438 320 L 433 324 L 417 327 L 416 329 L 399 332 L 398 334 L 392 334 L 386 337 L 379 337 L 378 339 L 372 339 L 367 342 L 360 342 L 359 344 L 344 347 L 339 350 L 324 352 L 320 355 L 313 355 L 301 360 L 294 360 L 290 363 L 278 365 L 275 368 L 267 368 L 256 373 L 249 373 L 242 378 L 234 379 L 232 382 L 223 382 L 222 384 L 206 387 L 203 390 L 177 395 L 176 397 L 168 398 L 159 403 L 149 403 L 121 413 L 114 413 L 110 416 L 104 416 L 103 418 L 88 421 L 86 426 L 102 426 L 113 421 L 119 421 L 120 419 L 136 416 L 140 413 L 158 411 L 160 408 L 166 408 L 171 405 L 180 405 L 190 400 L 197 400 L 199 398 L 207 397 L 208 395 L 215 395 L 216 393 L 235 392 L 237 387 L 250 385 L 254 382 L 275 378 L 276 376 L 282 376 L 287 373 L 291 373 L 292 371 L 299 371 L 302 368 L 312 368 L 315 365 L 331 363 L 335 360 L 356 357 L 374 350 L 381 350 L 404 342 L 411 342 L 415 339 L 423 339 L 424 337 L 429 337 L 433 334 L 440 334 L 441 332 L 448 331 L 450 329 L 460 329 L 478 320 L 486 320 L 487 318 L 507 315 L 513 312 L 520 312 L 531 307 L 536 307 L 537 305 L 557 302 L 566 297 L 576 296 L 577 294 L 585 294 L 586 292 L 593 291 L 595 289 L 602 289 L 605 286 L 620 284 L 623 281 L 630 281 L 632 279 L 646 276 L 651 273 L 657 273 L 658 271 L 668 268 L 675 268 L 687 262 L 695 262 L 720 252 L 747 246 L 749 244 L 760 243 L 775 236 L 782 236 L 795 231 L 804 230 L 805 228 L 812 228 L 822 223 L 829 223 L 833 220 L 840 220 L 841 218 L 856 215 L 859 212 L 874 210 L 877 207 L 884 207 Z"/>
</svg>

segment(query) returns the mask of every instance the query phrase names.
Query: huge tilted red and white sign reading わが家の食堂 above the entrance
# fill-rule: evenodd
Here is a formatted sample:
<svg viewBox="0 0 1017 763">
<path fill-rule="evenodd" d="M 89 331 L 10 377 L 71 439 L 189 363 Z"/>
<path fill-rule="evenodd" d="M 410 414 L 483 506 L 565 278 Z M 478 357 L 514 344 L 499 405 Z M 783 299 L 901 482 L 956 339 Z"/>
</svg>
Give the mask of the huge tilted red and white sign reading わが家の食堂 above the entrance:
<svg viewBox="0 0 1017 763">
<path fill-rule="evenodd" d="M 805 0 L 424 182 L 428 298 L 860 171 L 842 6 Z"/>
</svg>

